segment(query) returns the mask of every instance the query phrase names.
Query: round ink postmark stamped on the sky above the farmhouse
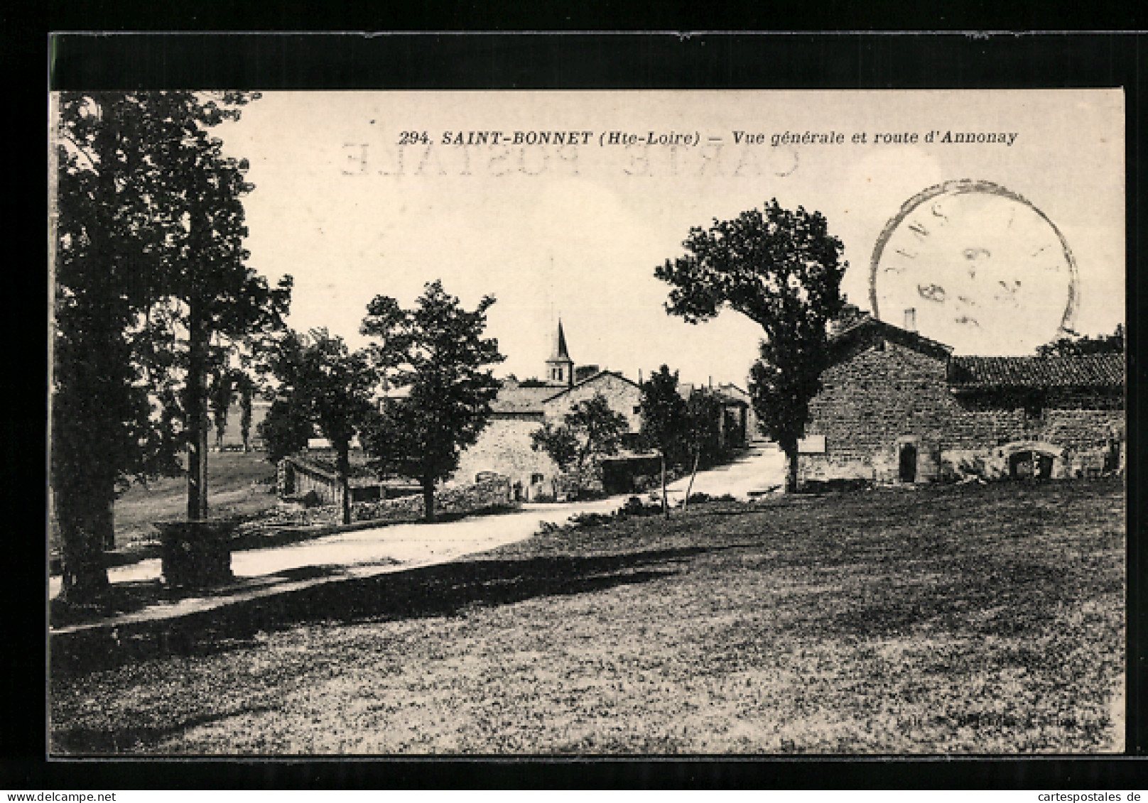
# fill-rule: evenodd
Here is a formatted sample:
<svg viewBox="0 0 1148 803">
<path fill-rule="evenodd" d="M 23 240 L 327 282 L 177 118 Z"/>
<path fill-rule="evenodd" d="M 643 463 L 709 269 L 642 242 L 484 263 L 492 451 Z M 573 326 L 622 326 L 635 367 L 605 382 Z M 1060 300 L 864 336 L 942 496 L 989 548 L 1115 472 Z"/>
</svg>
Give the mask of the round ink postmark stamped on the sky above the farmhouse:
<svg viewBox="0 0 1148 803">
<path fill-rule="evenodd" d="M 876 317 L 961 353 L 1032 353 L 1072 330 L 1080 290 L 1064 235 L 1021 195 L 991 181 L 945 181 L 906 201 L 870 260 Z"/>
</svg>

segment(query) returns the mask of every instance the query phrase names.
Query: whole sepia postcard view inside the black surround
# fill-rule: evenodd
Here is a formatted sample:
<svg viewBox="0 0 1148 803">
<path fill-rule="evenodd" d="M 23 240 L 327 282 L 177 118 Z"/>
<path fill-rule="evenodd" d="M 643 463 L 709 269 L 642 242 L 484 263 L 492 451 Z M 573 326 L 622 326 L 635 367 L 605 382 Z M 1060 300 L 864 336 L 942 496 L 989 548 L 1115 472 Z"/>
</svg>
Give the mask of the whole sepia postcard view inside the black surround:
<svg viewBox="0 0 1148 803">
<path fill-rule="evenodd" d="M 1125 750 L 1123 89 L 49 107 L 51 757 Z"/>
</svg>

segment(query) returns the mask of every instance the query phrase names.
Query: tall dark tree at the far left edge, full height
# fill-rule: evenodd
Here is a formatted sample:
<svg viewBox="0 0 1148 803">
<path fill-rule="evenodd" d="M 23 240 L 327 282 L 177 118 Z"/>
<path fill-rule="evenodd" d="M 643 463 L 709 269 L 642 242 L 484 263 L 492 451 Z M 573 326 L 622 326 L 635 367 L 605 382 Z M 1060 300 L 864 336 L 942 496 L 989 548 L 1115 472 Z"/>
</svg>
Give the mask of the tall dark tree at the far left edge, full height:
<svg viewBox="0 0 1148 803">
<path fill-rule="evenodd" d="M 57 101 L 52 500 L 62 597 L 73 601 L 107 586 L 117 486 L 152 468 L 139 438 L 150 418 L 147 389 L 126 333 L 148 303 L 164 231 L 146 201 L 160 181 L 138 107 L 126 95 Z"/>
</svg>

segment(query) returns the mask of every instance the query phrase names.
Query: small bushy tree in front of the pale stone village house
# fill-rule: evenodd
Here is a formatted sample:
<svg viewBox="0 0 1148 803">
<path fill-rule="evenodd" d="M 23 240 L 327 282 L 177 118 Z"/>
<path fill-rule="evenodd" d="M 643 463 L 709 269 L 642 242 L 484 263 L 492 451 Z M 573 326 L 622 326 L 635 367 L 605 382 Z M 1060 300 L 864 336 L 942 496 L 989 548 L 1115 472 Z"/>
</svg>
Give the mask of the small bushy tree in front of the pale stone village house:
<svg viewBox="0 0 1148 803">
<path fill-rule="evenodd" d="M 545 452 L 559 468 L 574 469 L 574 481 L 581 491 L 585 480 L 597 469 L 603 457 L 618 454 L 629 421 L 610 407 L 602 393 L 575 404 L 563 416 L 563 423 L 548 424 L 530 434 L 530 447 Z"/>
</svg>

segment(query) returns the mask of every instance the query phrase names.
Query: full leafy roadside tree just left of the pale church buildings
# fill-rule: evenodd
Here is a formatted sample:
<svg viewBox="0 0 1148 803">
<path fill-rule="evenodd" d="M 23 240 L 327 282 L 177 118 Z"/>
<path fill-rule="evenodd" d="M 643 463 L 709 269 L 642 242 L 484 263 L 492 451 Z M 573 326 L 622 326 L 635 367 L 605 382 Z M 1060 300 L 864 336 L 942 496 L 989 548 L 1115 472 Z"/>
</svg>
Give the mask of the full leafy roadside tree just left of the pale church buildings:
<svg viewBox="0 0 1148 803">
<path fill-rule="evenodd" d="M 419 482 L 427 521 L 434 520 L 435 483 L 478 441 L 498 392 L 488 366 L 505 358 L 497 340 L 483 337 L 494 303 L 486 296 L 465 310 L 435 281 L 411 310 L 375 296 L 363 319 L 362 334 L 373 338 L 372 362 L 393 391 L 365 428 L 363 445 L 378 470 Z"/>
</svg>

